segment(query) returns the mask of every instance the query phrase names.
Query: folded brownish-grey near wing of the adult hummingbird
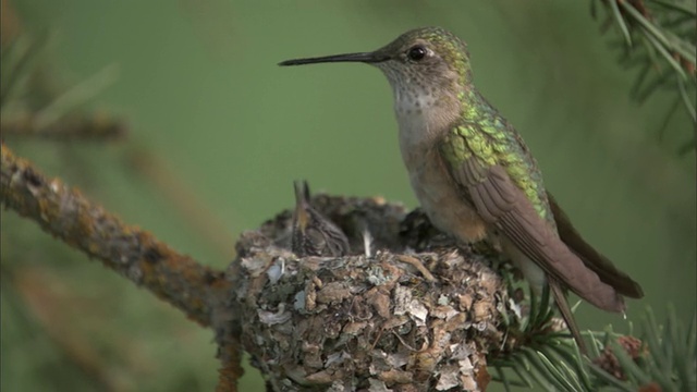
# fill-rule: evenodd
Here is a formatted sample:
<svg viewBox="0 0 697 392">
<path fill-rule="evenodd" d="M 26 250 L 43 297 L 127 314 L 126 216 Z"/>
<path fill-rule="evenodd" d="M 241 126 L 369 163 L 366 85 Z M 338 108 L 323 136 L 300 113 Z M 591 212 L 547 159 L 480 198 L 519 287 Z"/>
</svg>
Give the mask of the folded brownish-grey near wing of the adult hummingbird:
<svg viewBox="0 0 697 392">
<path fill-rule="evenodd" d="M 486 166 L 473 155 L 450 163 L 453 180 L 481 219 L 496 226 L 525 256 L 592 305 L 609 311 L 624 310 L 622 296 L 568 249 L 504 168 Z"/>
</svg>

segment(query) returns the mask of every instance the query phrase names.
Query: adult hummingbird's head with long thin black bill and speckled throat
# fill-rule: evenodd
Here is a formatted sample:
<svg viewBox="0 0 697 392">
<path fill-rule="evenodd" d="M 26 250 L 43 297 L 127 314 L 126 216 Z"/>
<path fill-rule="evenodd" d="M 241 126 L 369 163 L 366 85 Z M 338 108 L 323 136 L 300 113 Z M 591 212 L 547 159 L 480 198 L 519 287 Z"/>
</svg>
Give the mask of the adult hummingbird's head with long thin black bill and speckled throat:
<svg viewBox="0 0 697 392">
<path fill-rule="evenodd" d="M 279 65 L 322 62 L 364 62 L 379 68 L 392 85 L 398 108 L 452 103 L 472 79 L 465 42 L 440 27 L 406 32 L 371 52 L 288 60 Z"/>
</svg>

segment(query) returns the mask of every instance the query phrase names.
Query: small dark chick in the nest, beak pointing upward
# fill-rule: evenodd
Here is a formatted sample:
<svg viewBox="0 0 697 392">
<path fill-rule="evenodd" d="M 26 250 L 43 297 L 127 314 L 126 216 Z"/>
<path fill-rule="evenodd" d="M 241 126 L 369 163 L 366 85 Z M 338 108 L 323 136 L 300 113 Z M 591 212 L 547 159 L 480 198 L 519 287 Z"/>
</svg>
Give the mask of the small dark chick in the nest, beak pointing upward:
<svg viewBox="0 0 697 392">
<path fill-rule="evenodd" d="M 307 182 L 295 182 L 292 250 L 298 257 L 339 257 L 351 252 L 346 235 L 309 204 Z"/>
</svg>

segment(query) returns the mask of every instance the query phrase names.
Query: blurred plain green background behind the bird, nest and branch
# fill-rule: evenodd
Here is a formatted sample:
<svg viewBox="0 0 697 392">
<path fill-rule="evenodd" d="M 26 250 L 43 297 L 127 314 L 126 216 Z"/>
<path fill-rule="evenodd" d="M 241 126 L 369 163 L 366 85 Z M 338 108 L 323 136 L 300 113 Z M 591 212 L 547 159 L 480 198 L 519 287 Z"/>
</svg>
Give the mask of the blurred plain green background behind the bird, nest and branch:
<svg viewBox="0 0 697 392">
<path fill-rule="evenodd" d="M 646 306 L 662 320 L 669 303 L 684 322 L 694 315 L 695 154 L 675 152 L 693 124 L 678 110 L 659 142 L 673 95 L 628 99 L 635 75 L 615 63 L 587 1 L 11 3 L 24 30 L 50 33 L 51 78 L 113 78 L 86 109 L 122 117 L 130 133 L 111 144 L 5 143 L 220 269 L 243 230 L 292 205 L 295 179 L 416 206 L 380 72 L 276 64 L 371 50 L 417 26 L 452 29 L 576 226 L 643 284 L 628 320 Z M 213 389 L 210 331 L 8 211 L 1 299 L 3 391 Z M 577 315 L 585 329 L 628 329 L 589 305 Z M 262 391 L 256 370 L 241 390 Z"/>
</svg>

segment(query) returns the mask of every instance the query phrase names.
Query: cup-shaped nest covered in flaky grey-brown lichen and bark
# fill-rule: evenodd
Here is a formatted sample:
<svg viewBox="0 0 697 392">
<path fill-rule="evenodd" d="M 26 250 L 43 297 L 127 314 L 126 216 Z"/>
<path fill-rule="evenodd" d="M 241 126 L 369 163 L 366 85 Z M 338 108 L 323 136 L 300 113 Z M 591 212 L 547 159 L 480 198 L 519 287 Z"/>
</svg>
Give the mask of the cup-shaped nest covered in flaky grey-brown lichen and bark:
<svg viewBox="0 0 697 392">
<path fill-rule="evenodd" d="M 455 246 L 419 210 L 379 198 L 318 195 L 313 206 L 355 255 L 297 258 L 284 211 L 242 235 L 228 271 L 236 329 L 269 388 L 485 390 L 506 301 L 491 254 Z"/>
</svg>

